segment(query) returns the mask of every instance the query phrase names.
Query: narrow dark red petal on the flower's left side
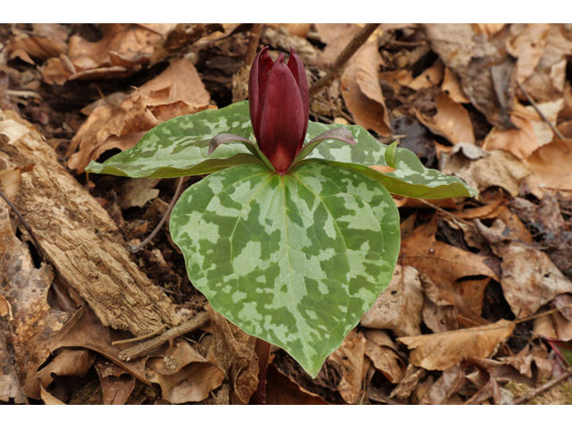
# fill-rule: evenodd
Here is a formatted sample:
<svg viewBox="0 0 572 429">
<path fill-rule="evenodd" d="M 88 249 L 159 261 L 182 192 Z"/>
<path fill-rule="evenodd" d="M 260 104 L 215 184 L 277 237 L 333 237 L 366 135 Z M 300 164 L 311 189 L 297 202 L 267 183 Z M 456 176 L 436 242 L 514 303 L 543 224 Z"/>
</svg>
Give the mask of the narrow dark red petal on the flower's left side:
<svg viewBox="0 0 572 429">
<path fill-rule="evenodd" d="M 258 139 L 260 131 L 260 115 L 265 101 L 266 83 L 272 70 L 273 61 L 268 55 L 268 46 L 265 46 L 252 63 L 248 77 L 248 107 L 250 109 L 250 122 L 254 135 Z"/>
</svg>

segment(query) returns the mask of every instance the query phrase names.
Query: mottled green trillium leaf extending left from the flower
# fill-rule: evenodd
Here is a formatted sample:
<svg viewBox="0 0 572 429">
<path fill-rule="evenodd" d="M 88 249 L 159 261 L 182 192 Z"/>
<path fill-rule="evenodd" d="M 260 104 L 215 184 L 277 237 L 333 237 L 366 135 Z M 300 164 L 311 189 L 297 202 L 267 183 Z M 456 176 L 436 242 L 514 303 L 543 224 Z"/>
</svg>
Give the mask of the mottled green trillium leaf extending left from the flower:
<svg viewBox="0 0 572 429">
<path fill-rule="evenodd" d="M 219 110 L 179 116 L 149 130 L 139 143 L 105 163 L 89 163 L 87 172 L 130 177 L 180 177 L 217 172 L 231 165 L 257 163 L 240 142 L 229 142 L 208 154 L 210 140 L 220 133 L 252 139 L 248 102 Z M 250 157 L 223 159 L 238 154 Z"/>
</svg>

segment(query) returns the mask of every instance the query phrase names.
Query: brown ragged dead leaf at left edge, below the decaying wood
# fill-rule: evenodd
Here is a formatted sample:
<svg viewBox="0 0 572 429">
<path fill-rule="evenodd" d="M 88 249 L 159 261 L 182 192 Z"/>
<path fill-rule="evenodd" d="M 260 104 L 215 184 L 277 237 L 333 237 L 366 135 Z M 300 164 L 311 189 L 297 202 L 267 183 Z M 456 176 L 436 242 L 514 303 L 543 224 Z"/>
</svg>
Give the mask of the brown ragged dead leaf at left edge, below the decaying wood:
<svg viewBox="0 0 572 429">
<path fill-rule="evenodd" d="M 0 360 L 2 374 L 16 374 L 27 396 L 40 399 L 38 367 L 50 356 L 55 336 L 71 315 L 47 304 L 47 290 L 54 280 L 51 265 L 35 268 L 28 246 L 18 240 L 12 230 L 8 205 L 0 199 L 0 294 L 12 308 L 13 319 L 0 317 L 0 341 L 10 359 Z M 16 364 L 16 366 L 13 366 Z M 3 380 L 5 383 L 6 380 Z M 17 399 L 18 386 L 6 391 Z M 12 394 L 12 393 L 11 393 Z"/>
</svg>

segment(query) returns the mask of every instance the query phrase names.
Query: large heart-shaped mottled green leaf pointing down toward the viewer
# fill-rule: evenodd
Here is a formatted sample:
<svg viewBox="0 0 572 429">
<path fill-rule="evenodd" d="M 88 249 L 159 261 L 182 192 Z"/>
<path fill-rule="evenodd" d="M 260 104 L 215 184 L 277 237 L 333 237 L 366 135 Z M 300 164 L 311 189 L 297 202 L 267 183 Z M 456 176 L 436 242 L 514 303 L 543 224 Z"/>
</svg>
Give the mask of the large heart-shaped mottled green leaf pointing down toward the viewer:
<svg viewBox="0 0 572 429">
<path fill-rule="evenodd" d="M 400 218 L 378 181 L 305 162 L 237 165 L 195 183 L 171 215 L 189 279 L 215 310 L 315 376 L 391 280 Z"/>
</svg>

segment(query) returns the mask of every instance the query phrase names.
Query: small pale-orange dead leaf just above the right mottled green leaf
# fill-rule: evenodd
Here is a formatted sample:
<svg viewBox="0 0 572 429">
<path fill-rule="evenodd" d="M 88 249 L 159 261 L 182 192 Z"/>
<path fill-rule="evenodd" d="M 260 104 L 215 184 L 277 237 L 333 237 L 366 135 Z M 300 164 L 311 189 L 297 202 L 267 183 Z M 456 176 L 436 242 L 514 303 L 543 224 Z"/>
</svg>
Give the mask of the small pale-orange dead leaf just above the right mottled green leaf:
<svg viewBox="0 0 572 429">
<path fill-rule="evenodd" d="M 470 143 L 475 144 L 473 123 L 467 109 L 450 99 L 444 92 L 437 94 L 435 98 L 437 114 L 433 118 L 424 118 L 423 114 L 416 111 L 416 117 L 434 134 L 448 139 L 452 144 Z"/>
</svg>

